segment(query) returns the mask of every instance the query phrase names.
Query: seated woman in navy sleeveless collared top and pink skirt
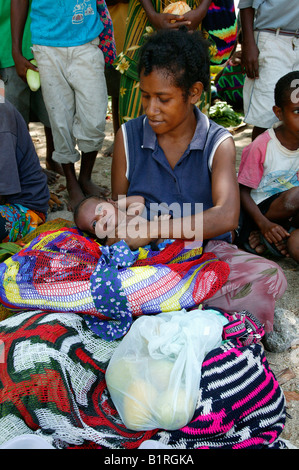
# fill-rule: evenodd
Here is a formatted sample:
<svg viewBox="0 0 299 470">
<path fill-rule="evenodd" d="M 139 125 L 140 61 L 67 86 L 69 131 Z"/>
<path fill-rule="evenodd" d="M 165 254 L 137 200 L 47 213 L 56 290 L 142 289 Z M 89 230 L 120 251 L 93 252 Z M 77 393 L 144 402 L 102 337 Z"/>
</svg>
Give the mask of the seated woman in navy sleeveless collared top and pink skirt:
<svg viewBox="0 0 299 470">
<path fill-rule="evenodd" d="M 156 238 L 203 239 L 204 250 L 231 271 L 208 304 L 248 309 L 271 331 L 286 279 L 275 263 L 230 244 L 239 217 L 234 142 L 195 106 L 209 80 L 205 43 L 196 32 L 161 31 L 144 46 L 139 71 L 145 116 L 123 124 L 116 136 L 112 197 L 143 196 L 149 219 L 157 207 L 178 204 L 180 213 L 144 223 L 128 243 L 136 248 Z"/>
</svg>

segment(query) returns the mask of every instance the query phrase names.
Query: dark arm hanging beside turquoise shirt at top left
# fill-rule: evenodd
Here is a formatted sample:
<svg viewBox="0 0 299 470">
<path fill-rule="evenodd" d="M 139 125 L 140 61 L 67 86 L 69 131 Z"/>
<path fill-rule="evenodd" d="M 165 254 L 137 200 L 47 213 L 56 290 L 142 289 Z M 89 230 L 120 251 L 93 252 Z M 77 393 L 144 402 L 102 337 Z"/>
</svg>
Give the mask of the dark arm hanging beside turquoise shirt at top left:
<svg viewBox="0 0 299 470">
<path fill-rule="evenodd" d="M 28 69 L 37 70 L 29 60 L 22 54 L 22 40 L 24 28 L 28 16 L 28 0 L 11 0 L 11 36 L 12 36 L 12 56 L 19 77 L 27 83 L 26 72 Z"/>
</svg>

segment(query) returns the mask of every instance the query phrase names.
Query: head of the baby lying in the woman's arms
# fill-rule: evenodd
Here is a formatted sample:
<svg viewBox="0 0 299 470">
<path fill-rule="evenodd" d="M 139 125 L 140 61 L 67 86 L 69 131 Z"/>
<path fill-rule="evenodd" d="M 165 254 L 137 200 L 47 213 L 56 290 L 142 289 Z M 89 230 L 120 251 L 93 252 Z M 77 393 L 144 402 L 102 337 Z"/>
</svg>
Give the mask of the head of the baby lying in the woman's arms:
<svg viewBox="0 0 299 470">
<path fill-rule="evenodd" d="M 91 235 L 96 235 L 102 244 L 112 235 L 118 223 L 117 205 L 112 199 L 87 196 L 74 210 L 76 226 Z"/>
</svg>

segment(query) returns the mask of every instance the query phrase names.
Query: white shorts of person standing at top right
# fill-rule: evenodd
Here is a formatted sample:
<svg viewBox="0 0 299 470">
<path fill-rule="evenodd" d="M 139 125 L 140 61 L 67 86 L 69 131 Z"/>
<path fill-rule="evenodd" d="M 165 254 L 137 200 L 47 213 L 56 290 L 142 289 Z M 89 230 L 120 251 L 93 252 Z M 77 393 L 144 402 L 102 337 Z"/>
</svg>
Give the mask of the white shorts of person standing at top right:
<svg viewBox="0 0 299 470">
<path fill-rule="evenodd" d="M 255 31 L 259 49 L 259 78 L 245 79 L 243 88 L 245 122 L 264 129 L 277 118 L 274 106 L 274 88 L 282 76 L 299 70 L 299 38 Z"/>
</svg>

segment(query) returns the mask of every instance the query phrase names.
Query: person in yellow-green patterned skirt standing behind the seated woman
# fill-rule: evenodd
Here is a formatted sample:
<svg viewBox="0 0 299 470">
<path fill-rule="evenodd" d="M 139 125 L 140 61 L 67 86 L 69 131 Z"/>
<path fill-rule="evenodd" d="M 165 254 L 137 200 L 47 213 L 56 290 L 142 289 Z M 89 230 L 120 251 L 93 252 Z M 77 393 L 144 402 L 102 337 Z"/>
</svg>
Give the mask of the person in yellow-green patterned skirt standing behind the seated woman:
<svg viewBox="0 0 299 470">
<path fill-rule="evenodd" d="M 233 49 L 237 35 L 237 20 L 232 0 L 186 0 L 191 8 L 184 16 L 163 13 L 170 0 L 130 0 L 123 52 L 116 61 L 122 74 L 120 82 L 120 123 L 141 113 L 138 61 L 140 47 L 154 30 L 177 29 L 185 25 L 189 30 L 201 28 L 210 41 L 210 57 L 214 64 L 225 62 Z M 174 18 L 176 22 L 174 22 Z M 207 113 L 210 90 L 201 96 L 200 109 Z"/>
</svg>

